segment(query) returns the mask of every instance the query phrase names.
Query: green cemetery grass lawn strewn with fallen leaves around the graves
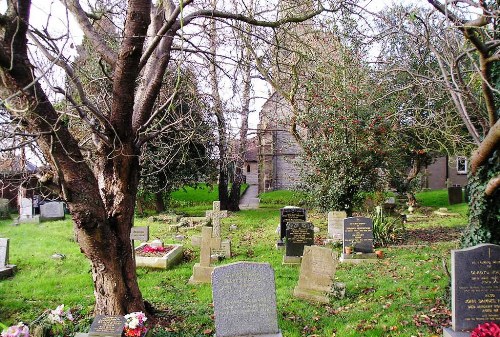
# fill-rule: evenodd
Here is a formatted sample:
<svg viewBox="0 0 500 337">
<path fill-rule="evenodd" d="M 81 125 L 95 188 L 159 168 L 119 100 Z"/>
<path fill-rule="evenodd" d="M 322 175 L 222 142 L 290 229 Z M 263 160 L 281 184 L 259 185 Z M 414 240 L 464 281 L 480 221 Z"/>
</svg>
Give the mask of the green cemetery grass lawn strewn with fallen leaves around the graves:
<svg viewBox="0 0 500 337">
<path fill-rule="evenodd" d="M 222 219 L 222 236 L 231 239 L 233 257 L 218 264 L 236 261 L 269 262 L 276 279 L 278 324 L 283 336 L 439 336 L 440 326 L 449 319 L 446 294 L 449 279 L 442 262 L 449 264 L 450 250 L 457 248 L 449 233 L 439 236 L 408 238 L 406 245 L 382 248 L 385 258 L 373 264 L 339 264 L 337 282 L 346 284 L 346 297 L 329 304 L 311 304 L 292 296 L 298 281 L 298 267 L 281 264 L 283 251 L 275 249 L 279 208 L 289 204 L 278 201 L 258 210 L 231 213 Z M 433 205 L 432 210 L 437 209 Z M 442 206 L 438 206 L 442 207 Z M 210 209 L 211 205 L 203 208 Z M 408 223 L 412 230 L 441 231 L 460 228 L 466 223 L 466 206 L 458 216 L 442 218 L 432 211 L 418 221 Z M 460 210 L 464 208 L 464 212 Z M 201 210 L 201 209 L 200 209 Z M 198 208 L 194 213 L 198 212 Z M 419 210 L 420 212 L 420 210 Z M 326 214 L 308 211 L 308 220 L 320 229 L 316 237 L 326 237 Z M 92 318 L 93 287 L 90 266 L 73 241 L 69 220 L 41 225 L 11 226 L 0 222 L 0 237 L 10 238 L 10 262 L 18 266 L 13 278 L 0 280 L 0 322 L 32 322 L 44 310 L 59 304 L 77 308 Z M 235 231 L 229 226 L 236 224 Z M 444 224 L 444 225 L 443 225 Z M 150 238 L 174 242 L 175 233 L 168 225 L 137 218 L 136 226 L 150 226 Z M 185 247 L 184 261 L 171 270 L 138 269 L 144 298 L 158 310 L 154 336 L 212 336 L 214 334 L 211 287 L 188 285 L 192 267 L 199 259 L 199 248 L 191 246 L 190 237 L 199 234 L 191 229 L 181 234 Z M 136 242 L 138 245 L 139 242 Z M 330 246 L 332 247 L 332 246 Z M 340 253 L 340 247 L 332 247 Z M 54 253 L 66 259 L 53 260 Z M 88 328 L 87 328 L 88 329 Z M 80 331 L 86 332 L 85 324 Z"/>
</svg>

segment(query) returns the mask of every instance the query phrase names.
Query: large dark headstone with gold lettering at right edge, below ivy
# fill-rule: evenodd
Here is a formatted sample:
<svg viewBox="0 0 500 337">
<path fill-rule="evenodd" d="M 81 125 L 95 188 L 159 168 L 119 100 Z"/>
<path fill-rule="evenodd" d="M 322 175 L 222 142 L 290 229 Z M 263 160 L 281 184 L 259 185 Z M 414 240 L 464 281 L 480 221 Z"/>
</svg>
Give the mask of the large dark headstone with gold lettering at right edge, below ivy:
<svg viewBox="0 0 500 337">
<path fill-rule="evenodd" d="M 469 336 L 479 324 L 500 324 L 500 246 L 451 251 L 451 322 L 446 337 Z"/>
</svg>

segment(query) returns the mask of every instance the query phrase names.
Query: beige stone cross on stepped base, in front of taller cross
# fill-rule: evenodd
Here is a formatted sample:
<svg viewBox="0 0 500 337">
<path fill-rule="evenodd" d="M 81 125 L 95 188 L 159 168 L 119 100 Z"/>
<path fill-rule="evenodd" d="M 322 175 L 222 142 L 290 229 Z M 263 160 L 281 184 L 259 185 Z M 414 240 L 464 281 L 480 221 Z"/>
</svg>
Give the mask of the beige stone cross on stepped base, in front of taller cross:
<svg viewBox="0 0 500 337">
<path fill-rule="evenodd" d="M 200 262 L 193 266 L 193 275 L 189 284 L 210 283 L 210 275 L 214 267 L 210 266 L 212 249 L 221 248 L 220 238 L 212 237 L 212 227 L 203 227 L 201 230 Z"/>
</svg>

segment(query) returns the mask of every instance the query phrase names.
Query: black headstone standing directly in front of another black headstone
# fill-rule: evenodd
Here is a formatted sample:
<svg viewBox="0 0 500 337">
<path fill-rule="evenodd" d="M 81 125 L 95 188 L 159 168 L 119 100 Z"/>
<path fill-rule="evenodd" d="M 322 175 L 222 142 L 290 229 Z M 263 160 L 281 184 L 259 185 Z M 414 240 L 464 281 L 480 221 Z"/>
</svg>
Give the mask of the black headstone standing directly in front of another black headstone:
<svg viewBox="0 0 500 337">
<path fill-rule="evenodd" d="M 304 246 L 314 245 L 314 225 L 310 222 L 288 222 L 286 225 L 285 255 L 302 256 Z"/>
</svg>

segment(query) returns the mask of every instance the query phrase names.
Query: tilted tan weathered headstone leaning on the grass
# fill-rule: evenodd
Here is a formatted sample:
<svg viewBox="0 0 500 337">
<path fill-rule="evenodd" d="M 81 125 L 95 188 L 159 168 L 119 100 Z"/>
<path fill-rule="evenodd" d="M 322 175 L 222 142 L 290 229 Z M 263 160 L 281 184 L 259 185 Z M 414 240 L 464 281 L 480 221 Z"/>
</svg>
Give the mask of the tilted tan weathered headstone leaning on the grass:
<svg viewBox="0 0 500 337">
<path fill-rule="evenodd" d="M 329 303 L 337 264 L 337 254 L 331 249 L 304 247 L 299 283 L 293 290 L 293 295 L 310 301 Z"/>
</svg>

